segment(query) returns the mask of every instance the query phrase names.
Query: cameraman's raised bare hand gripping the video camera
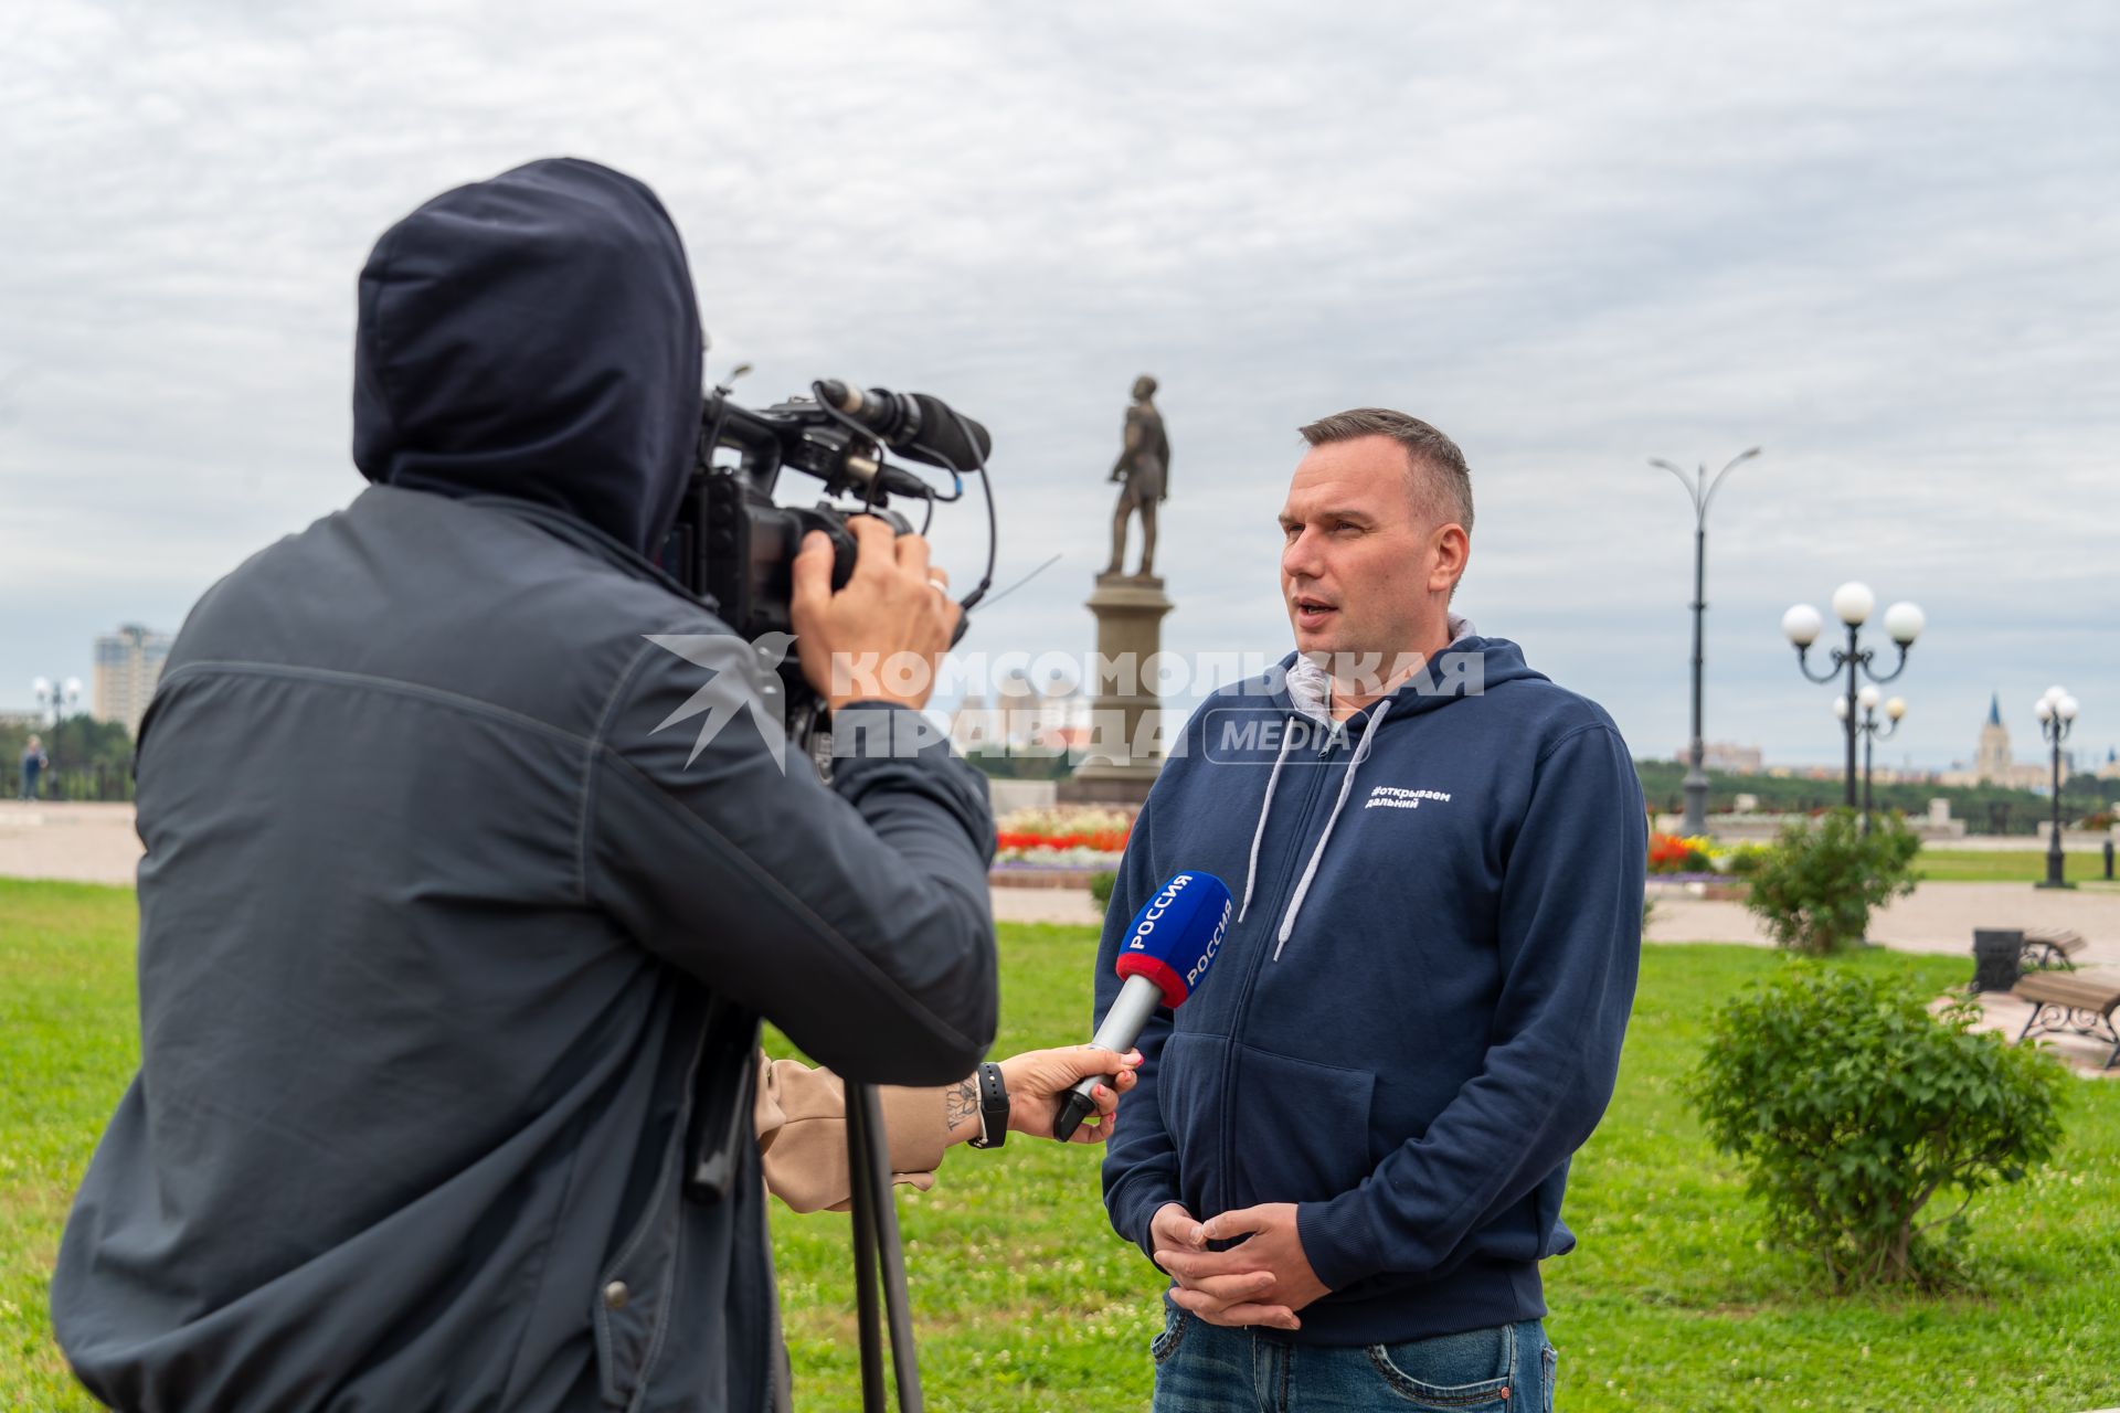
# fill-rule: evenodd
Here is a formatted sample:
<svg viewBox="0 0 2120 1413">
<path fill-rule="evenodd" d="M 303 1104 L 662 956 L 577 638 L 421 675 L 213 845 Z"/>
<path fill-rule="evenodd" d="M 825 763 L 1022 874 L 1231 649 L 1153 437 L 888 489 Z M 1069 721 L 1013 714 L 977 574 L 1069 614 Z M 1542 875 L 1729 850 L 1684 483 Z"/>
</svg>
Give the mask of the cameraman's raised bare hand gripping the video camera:
<svg viewBox="0 0 2120 1413">
<path fill-rule="evenodd" d="M 950 576 L 929 568 L 929 544 L 916 534 L 897 534 L 873 515 L 846 527 L 854 572 L 837 593 L 829 536 L 812 530 L 795 555 L 789 616 L 801 674 L 831 708 L 897 701 L 918 710 L 962 616 Z"/>
</svg>

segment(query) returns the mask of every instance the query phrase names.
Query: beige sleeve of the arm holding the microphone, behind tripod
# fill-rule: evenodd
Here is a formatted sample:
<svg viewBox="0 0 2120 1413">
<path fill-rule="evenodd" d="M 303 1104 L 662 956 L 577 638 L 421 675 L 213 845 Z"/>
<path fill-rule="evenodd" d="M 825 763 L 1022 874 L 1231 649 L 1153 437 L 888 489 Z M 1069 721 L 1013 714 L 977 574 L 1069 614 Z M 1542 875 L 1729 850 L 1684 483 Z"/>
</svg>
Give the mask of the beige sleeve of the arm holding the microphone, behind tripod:
<svg viewBox="0 0 2120 1413">
<path fill-rule="evenodd" d="M 948 1148 L 939 1089 L 876 1089 L 890 1140 L 890 1176 L 922 1193 Z M 759 1051 L 759 1099 L 753 1108 L 765 1188 L 797 1212 L 844 1212 L 852 1201 L 846 1169 L 846 1085 L 831 1070 Z"/>
</svg>

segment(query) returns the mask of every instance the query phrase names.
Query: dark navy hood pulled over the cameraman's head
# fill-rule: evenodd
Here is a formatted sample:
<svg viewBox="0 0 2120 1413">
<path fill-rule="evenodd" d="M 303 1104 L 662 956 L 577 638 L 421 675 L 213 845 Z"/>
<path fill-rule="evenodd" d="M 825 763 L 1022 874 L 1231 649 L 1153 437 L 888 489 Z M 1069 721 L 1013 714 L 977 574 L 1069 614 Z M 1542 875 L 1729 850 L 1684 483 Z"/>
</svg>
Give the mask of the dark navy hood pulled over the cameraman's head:
<svg viewBox="0 0 2120 1413">
<path fill-rule="evenodd" d="M 354 464 L 653 557 L 700 439 L 700 309 L 642 182 L 560 157 L 443 193 L 360 271 Z"/>
</svg>

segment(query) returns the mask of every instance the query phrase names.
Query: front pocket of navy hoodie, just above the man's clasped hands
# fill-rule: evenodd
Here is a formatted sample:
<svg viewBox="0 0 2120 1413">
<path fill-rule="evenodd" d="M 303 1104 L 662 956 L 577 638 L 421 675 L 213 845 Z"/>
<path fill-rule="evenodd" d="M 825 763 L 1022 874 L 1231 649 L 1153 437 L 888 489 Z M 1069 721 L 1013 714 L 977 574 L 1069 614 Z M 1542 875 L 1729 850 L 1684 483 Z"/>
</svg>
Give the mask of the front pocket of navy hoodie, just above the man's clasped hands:
<svg viewBox="0 0 2120 1413">
<path fill-rule="evenodd" d="M 1230 1205 L 1327 1201 L 1361 1186 L 1376 1074 L 1236 1047 Z"/>
</svg>

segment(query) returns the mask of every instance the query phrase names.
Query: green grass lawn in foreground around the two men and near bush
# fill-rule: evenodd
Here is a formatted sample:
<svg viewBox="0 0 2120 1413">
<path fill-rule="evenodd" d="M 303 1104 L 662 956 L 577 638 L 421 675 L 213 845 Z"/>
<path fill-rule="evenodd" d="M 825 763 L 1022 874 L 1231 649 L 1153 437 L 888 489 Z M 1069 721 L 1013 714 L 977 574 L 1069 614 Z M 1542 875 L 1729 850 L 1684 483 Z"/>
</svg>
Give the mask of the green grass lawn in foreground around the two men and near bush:
<svg viewBox="0 0 2120 1413">
<path fill-rule="evenodd" d="M 45 1320 L 59 1220 L 136 1053 L 134 902 L 0 881 L 0 1409 L 85 1409 Z M 1083 1025 L 1085 928 L 1003 928 L 1003 1051 Z M 1863 953 L 1925 987 L 1959 958 Z M 1620 1095 L 1579 1155 L 1548 1265 L 1569 1413 L 1596 1409 L 2095 1409 L 2120 1402 L 2120 1085 L 2075 1087 L 2054 1169 L 1976 1208 L 1982 1294 L 1823 1294 L 1762 1250 L 1734 1174 L 1677 1097 L 1709 1006 L 1779 958 L 1651 947 Z M 1138 1409 L 1162 1280 L 1105 1224 L 1096 1155 L 952 1152 L 903 1197 L 929 1402 Z M 844 1216 L 776 1216 L 797 1407 L 856 1407 Z"/>
</svg>

